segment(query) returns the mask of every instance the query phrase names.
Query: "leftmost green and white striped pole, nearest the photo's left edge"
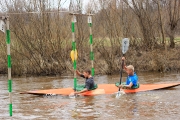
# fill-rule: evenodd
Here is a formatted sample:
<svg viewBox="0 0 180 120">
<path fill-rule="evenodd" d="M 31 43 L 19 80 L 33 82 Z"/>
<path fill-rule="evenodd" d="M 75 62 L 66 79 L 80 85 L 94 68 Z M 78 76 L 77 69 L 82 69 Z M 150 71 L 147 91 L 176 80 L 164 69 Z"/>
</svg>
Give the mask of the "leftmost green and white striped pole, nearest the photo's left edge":
<svg viewBox="0 0 180 120">
<path fill-rule="evenodd" d="M 12 116 L 12 79 L 11 79 L 11 52 L 10 52 L 10 30 L 9 17 L 6 17 L 6 43 L 7 43 L 7 62 L 8 62 L 8 91 L 9 91 L 9 115 Z"/>
</svg>

